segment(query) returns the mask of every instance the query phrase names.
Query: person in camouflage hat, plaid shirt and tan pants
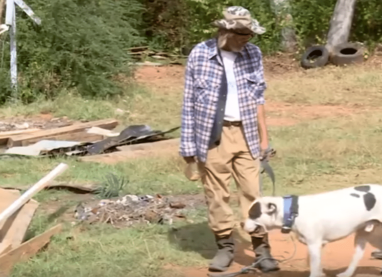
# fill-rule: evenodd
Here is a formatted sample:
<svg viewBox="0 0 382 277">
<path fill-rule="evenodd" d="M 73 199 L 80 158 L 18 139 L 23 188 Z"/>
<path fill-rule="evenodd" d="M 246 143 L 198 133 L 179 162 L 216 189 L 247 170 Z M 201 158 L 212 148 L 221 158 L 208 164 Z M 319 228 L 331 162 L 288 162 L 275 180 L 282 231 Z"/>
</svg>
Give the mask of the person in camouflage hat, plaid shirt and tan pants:
<svg viewBox="0 0 382 277">
<path fill-rule="evenodd" d="M 225 271 L 234 256 L 235 219 L 229 183 L 235 179 L 242 217 L 260 196 L 260 157 L 268 148 L 265 125 L 262 54 L 248 43 L 265 29 L 239 6 L 223 11 L 217 38 L 196 45 L 188 58 L 182 108 L 180 154 L 189 166 L 197 161 L 208 205 L 209 227 L 218 251 L 210 271 Z M 265 232 L 252 234 L 258 267 L 278 270 Z"/>
</svg>

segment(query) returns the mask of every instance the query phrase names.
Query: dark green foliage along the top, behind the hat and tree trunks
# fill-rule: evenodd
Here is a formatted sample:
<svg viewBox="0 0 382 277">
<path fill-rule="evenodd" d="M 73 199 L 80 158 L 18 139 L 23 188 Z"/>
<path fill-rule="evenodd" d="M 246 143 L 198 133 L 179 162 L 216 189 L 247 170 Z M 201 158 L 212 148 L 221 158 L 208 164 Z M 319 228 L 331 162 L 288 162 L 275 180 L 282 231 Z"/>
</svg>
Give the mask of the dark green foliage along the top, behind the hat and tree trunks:
<svg viewBox="0 0 382 277">
<path fill-rule="evenodd" d="M 301 49 L 326 42 L 336 1 L 289 0 L 292 26 Z M 165 4 L 164 0 L 145 0 L 142 3 L 147 8 L 145 24 L 152 26 L 147 38 L 156 42 L 156 46 L 162 46 L 162 49 L 190 48 L 213 37 L 216 28 L 211 26 L 211 22 L 220 19 L 223 8 L 231 5 L 246 7 L 266 27 L 266 33 L 252 40 L 264 53 L 273 53 L 281 49 L 281 30 L 285 22 L 282 19 L 277 22 L 271 0 L 185 0 L 188 10 L 181 13 L 179 11 L 183 6 L 173 4 L 173 1 Z M 165 35 L 166 31 L 171 35 Z M 370 43 L 381 41 L 381 37 L 381 0 L 358 0 L 350 40 Z"/>
</svg>

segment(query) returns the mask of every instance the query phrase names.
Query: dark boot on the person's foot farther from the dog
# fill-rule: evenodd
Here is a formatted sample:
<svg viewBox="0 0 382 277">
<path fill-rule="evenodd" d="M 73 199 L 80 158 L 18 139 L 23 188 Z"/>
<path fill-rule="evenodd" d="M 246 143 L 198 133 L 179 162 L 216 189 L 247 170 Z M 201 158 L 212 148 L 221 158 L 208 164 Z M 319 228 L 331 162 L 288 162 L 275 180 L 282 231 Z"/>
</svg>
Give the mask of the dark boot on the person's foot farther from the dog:
<svg viewBox="0 0 382 277">
<path fill-rule="evenodd" d="M 211 260 L 209 271 L 226 271 L 234 259 L 234 239 L 232 234 L 226 236 L 217 236 L 215 234 L 217 252 Z"/>
</svg>

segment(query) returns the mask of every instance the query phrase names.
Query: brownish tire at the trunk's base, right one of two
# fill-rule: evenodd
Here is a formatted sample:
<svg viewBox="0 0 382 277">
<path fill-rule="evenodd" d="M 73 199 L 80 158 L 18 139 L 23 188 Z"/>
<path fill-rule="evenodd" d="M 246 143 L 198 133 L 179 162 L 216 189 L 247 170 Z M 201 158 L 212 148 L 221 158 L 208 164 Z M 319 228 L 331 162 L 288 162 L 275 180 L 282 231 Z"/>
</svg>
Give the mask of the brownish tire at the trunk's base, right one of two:
<svg viewBox="0 0 382 277">
<path fill-rule="evenodd" d="M 356 43 L 342 43 L 334 46 L 330 61 L 334 65 L 359 64 L 363 62 L 364 49 Z"/>
</svg>

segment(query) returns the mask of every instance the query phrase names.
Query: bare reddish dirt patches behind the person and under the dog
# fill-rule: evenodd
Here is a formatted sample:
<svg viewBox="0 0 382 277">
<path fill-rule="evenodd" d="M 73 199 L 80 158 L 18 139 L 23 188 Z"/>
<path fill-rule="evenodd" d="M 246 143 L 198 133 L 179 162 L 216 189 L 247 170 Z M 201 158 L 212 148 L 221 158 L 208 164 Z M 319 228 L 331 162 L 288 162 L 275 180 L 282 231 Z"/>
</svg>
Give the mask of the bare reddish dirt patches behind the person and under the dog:
<svg viewBox="0 0 382 277">
<path fill-rule="evenodd" d="M 370 63 L 380 63 L 380 60 L 370 61 Z M 282 74 L 292 71 L 303 70 L 299 67 L 298 62 L 293 60 L 291 56 L 280 56 L 264 59 L 264 69 L 267 79 L 279 77 Z M 182 92 L 184 80 L 184 67 L 180 65 L 170 65 L 162 67 L 143 66 L 137 69 L 135 79 L 161 93 L 168 92 L 168 86 L 178 87 L 179 93 Z M 268 101 L 266 103 L 266 111 L 272 116 L 267 117 L 267 124 L 274 126 L 288 126 L 304 119 L 317 119 L 321 117 L 334 117 L 338 115 L 350 115 L 359 112 L 355 107 L 344 106 L 302 106 L 293 105 L 283 102 Z M 295 116 L 290 116 L 291 114 Z M 351 261 L 353 255 L 353 236 L 349 236 L 337 242 L 329 243 L 323 250 L 322 264 L 325 273 L 328 276 L 335 276 L 343 272 Z M 277 259 L 284 259 L 291 256 L 293 253 L 293 243 L 288 236 L 280 231 L 272 231 L 270 233 L 270 242 L 272 246 L 272 254 Z M 308 252 L 305 245 L 296 243 L 296 254 L 292 259 L 280 264 L 281 270 L 276 273 L 259 274 L 247 273 L 240 276 L 255 277 L 255 276 L 275 276 L 275 277 L 306 277 L 309 276 Z M 357 277 L 380 276 L 381 260 L 371 258 L 370 253 L 374 249 L 368 245 L 366 253 L 358 267 Z M 253 262 L 253 253 L 250 251 L 249 243 L 241 243 L 237 246 L 235 253 L 235 261 L 229 272 L 237 272 L 242 267 L 248 266 Z M 185 277 L 206 277 L 208 276 L 208 260 L 205 267 L 175 267 L 176 270 L 183 272 Z M 174 268 L 171 265 L 169 268 Z"/>
</svg>

